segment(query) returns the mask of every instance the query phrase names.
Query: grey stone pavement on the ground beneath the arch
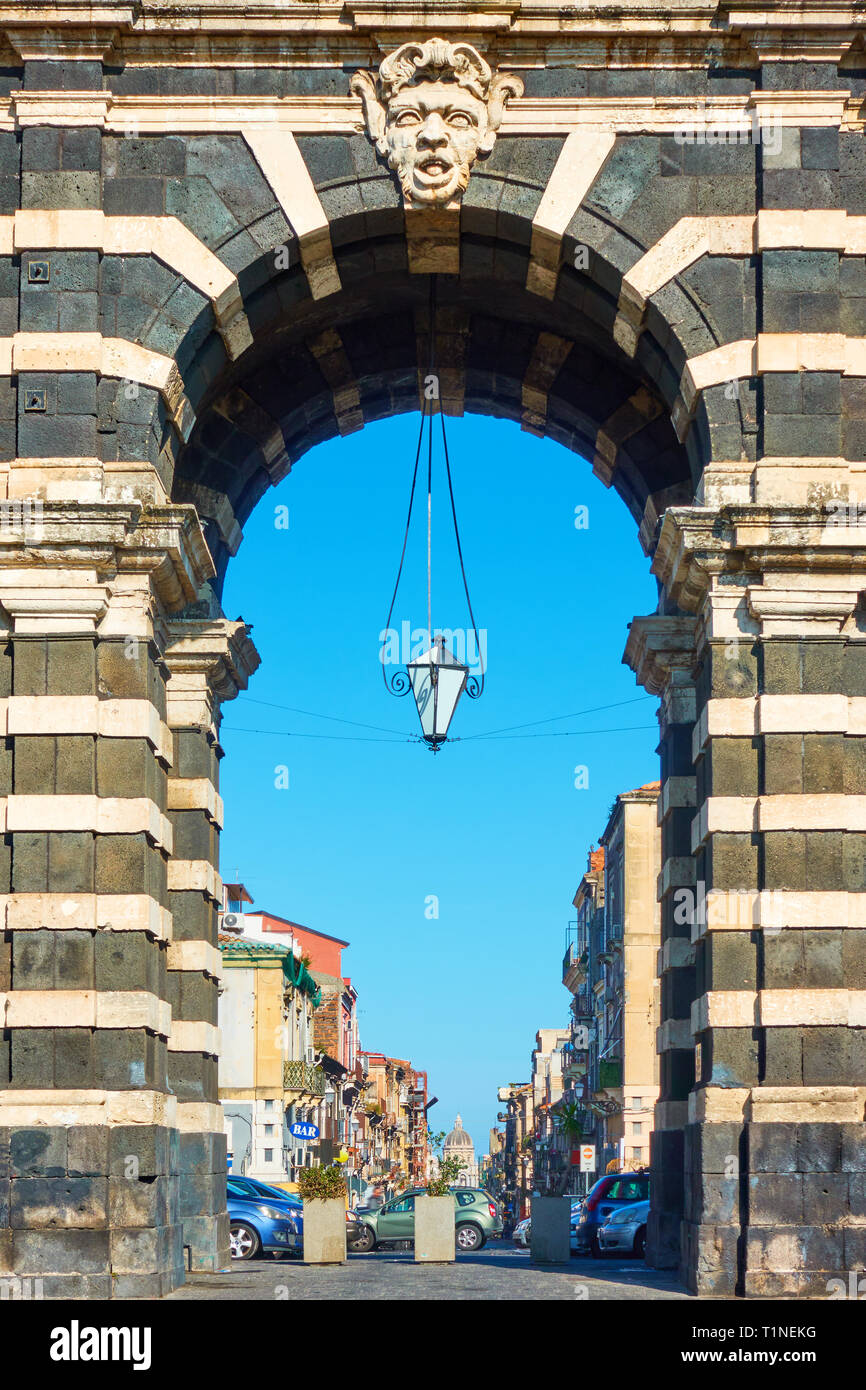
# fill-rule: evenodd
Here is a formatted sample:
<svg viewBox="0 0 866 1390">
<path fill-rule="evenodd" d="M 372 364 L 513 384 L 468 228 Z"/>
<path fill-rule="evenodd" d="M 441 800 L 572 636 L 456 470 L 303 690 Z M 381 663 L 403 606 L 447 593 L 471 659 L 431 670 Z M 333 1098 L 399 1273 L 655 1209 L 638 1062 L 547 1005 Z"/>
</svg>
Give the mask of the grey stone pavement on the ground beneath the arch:
<svg viewBox="0 0 866 1390">
<path fill-rule="evenodd" d="M 188 1275 L 170 1300 L 304 1298 L 345 1300 L 685 1300 L 667 1273 L 641 1259 L 573 1258 L 569 1265 L 539 1268 L 510 1241 L 488 1245 L 477 1255 L 459 1255 L 453 1265 L 416 1265 L 411 1254 L 377 1251 L 350 1255 L 346 1265 L 313 1266 L 293 1259 L 235 1262 L 224 1275 Z"/>
</svg>

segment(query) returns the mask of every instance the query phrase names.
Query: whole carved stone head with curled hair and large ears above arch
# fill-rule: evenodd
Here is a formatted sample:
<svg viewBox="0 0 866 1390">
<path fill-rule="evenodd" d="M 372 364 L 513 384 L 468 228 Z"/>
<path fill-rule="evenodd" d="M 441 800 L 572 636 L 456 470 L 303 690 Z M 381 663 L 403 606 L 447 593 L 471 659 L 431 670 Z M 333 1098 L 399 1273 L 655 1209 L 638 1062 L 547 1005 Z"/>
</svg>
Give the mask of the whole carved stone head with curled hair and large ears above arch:
<svg viewBox="0 0 866 1390">
<path fill-rule="evenodd" d="M 496 139 L 509 96 L 523 82 L 493 76 L 468 43 L 405 43 L 381 64 L 378 82 L 356 72 L 370 138 L 396 170 L 409 208 L 459 206 L 480 154 Z"/>
</svg>

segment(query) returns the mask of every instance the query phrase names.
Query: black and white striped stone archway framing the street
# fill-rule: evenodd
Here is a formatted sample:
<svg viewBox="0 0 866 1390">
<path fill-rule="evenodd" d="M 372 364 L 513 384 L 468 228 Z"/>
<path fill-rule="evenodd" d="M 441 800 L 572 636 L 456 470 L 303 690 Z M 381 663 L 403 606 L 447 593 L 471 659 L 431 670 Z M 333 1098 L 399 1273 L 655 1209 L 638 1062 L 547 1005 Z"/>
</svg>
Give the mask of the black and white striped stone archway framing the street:
<svg viewBox="0 0 866 1390">
<path fill-rule="evenodd" d="M 660 582 L 651 1257 L 756 1295 L 862 1259 L 856 33 L 602 11 L 461 11 L 456 63 L 420 17 L 0 3 L 0 1269 L 50 1297 L 225 1259 L 218 723 L 257 656 L 221 578 L 307 448 L 414 409 L 431 275 L 443 407 L 589 459 Z M 448 202 L 382 133 L 403 78 L 350 78 L 405 43 L 481 103 Z"/>
</svg>

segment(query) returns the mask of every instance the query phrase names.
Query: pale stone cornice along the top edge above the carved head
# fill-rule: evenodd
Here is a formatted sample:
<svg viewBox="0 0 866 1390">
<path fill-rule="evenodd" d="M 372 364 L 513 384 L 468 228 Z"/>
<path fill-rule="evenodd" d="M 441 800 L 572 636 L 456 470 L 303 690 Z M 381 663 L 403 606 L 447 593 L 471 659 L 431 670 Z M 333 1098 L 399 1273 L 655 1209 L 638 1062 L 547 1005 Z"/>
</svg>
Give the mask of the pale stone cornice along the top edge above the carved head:
<svg viewBox="0 0 866 1390">
<path fill-rule="evenodd" d="M 798 6 L 595 0 L 0 0 L 0 31 L 22 60 L 182 64 L 363 64 L 435 32 L 487 46 L 495 61 L 539 67 L 758 67 L 842 61 L 863 33 L 855 0 Z M 488 57 L 491 53 L 488 51 Z"/>
</svg>

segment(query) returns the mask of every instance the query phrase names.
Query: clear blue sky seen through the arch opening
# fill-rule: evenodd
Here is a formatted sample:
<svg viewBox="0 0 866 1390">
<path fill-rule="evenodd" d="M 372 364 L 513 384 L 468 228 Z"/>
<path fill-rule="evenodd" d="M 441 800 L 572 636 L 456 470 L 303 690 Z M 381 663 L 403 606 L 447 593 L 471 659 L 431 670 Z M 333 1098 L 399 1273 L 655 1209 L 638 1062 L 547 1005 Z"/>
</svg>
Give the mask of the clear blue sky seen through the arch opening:
<svg viewBox="0 0 866 1390">
<path fill-rule="evenodd" d="M 632 518 L 585 460 L 509 421 L 449 420 L 487 688 L 457 708 L 461 741 L 436 756 L 406 741 L 411 696 L 385 691 L 378 653 L 417 428 L 402 416 L 311 450 L 246 524 L 224 609 L 253 624 L 261 666 L 224 706 L 221 869 L 256 908 L 352 942 L 361 1045 L 427 1068 L 432 1127 L 460 1111 L 484 1152 L 496 1087 L 528 1076 L 537 1029 L 567 1020 L 560 962 L 587 849 L 616 792 L 657 776 L 656 702 L 621 664 L 656 585 Z M 420 503 L 398 627 L 427 621 Z M 434 630 L 468 621 L 446 507 L 438 468 Z M 587 733 L 546 737 L 573 730 Z"/>
</svg>

